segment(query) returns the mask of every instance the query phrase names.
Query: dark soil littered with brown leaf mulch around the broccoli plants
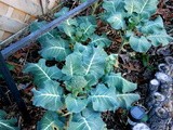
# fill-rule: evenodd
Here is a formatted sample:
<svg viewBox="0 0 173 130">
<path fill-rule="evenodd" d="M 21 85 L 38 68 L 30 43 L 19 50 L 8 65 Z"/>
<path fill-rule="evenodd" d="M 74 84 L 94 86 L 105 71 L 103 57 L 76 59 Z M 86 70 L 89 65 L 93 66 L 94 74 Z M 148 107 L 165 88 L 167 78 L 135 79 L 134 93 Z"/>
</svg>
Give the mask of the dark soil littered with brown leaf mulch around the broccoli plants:
<svg viewBox="0 0 173 130">
<path fill-rule="evenodd" d="M 71 0 L 66 2 L 66 5 L 69 8 L 75 8 L 78 5 L 78 3 L 72 2 Z M 101 12 L 101 10 L 97 9 L 95 13 L 97 12 Z M 83 11 L 80 15 L 88 13 L 90 13 L 90 8 Z M 160 0 L 158 11 L 155 15 L 158 14 L 160 14 L 163 17 L 164 25 L 169 35 L 173 36 L 173 0 Z M 41 17 L 41 20 L 42 18 L 49 21 L 52 20 L 52 17 L 50 16 Z M 98 29 L 96 30 L 97 34 L 99 34 L 101 31 L 107 32 L 108 30 L 108 37 L 114 42 L 110 46 L 110 48 L 108 48 L 106 51 L 108 53 L 117 53 L 121 42 L 119 34 L 112 30 L 108 25 L 98 22 Z M 129 47 L 125 47 L 125 49 L 128 51 L 121 51 L 118 63 L 119 67 L 115 67 L 115 70 L 120 72 L 125 79 L 136 82 L 138 84 L 137 90 L 135 92 L 139 93 L 142 99 L 134 104 L 142 105 L 145 107 L 145 100 L 147 96 L 147 84 L 149 80 L 154 77 L 158 64 L 164 61 L 164 56 L 173 56 L 173 43 L 164 48 L 152 47 L 147 52 L 147 54 L 134 54 Z M 2 89 L 10 101 L 10 105 L 6 105 L 2 101 L 0 101 L 0 108 L 5 109 L 5 112 L 9 114 L 9 117 L 16 117 L 18 119 L 17 125 L 22 128 L 22 130 L 36 130 L 37 121 L 41 119 L 42 115 L 45 112 L 43 108 L 36 107 L 32 105 L 32 93 L 30 91 L 35 87 L 31 82 L 32 78 L 29 75 L 24 75 L 22 72 L 24 65 L 27 62 L 38 62 L 38 60 L 40 58 L 38 54 L 39 50 L 39 44 L 32 43 L 30 47 L 19 50 L 18 52 L 10 56 L 6 61 L 10 65 L 15 67 L 13 70 L 11 70 L 11 73 L 22 94 L 22 98 L 26 103 L 27 109 L 31 116 L 31 120 L 29 123 L 24 122 L 22 115 L 18 113 L 16 103 L 13 101 L 10 91 L 8 91 L 6 89 L 5 82 L 2 79 L 0 79 L 0 84 L 2 86 Z M 107 123 L 108 129 L 128 130 L 128 110 L 119 108 L 116 113 L 103 113 L 102 117 L 104 121 Z"/>
</svg>

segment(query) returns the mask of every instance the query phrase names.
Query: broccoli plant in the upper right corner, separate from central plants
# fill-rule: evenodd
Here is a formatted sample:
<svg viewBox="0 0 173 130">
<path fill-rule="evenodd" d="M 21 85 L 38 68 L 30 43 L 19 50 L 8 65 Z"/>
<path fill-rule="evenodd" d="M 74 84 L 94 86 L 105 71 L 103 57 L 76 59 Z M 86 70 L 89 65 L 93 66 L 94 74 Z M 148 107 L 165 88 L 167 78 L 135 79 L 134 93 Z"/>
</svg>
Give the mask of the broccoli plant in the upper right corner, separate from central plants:
<svg viewBox="0 0 173 130">
<path fill-rule="evenodd" d="M 102 18 L 122 31 L 123 44 L 147 52 L 151 46 L 165 46 L 173 39 L 167 34 L 162 17 L 151 17 L 157 4 L 158 0 L 104 0 Z"/>
</svg>

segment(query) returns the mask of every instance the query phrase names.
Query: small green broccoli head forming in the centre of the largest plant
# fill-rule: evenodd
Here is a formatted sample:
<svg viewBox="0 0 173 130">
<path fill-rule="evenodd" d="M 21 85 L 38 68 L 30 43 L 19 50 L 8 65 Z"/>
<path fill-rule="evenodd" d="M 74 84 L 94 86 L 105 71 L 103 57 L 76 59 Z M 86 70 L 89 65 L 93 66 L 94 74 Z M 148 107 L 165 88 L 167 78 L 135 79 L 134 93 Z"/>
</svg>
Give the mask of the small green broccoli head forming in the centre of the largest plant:
<svg viewBox="0 0 173 130">
<path fill-rule="evenodd" d="M 88 81 L 82 76 L 74 76 L 70 80 L 65 81 L 66 89 L 76 93 L 82 92 Z"/>
</svg>

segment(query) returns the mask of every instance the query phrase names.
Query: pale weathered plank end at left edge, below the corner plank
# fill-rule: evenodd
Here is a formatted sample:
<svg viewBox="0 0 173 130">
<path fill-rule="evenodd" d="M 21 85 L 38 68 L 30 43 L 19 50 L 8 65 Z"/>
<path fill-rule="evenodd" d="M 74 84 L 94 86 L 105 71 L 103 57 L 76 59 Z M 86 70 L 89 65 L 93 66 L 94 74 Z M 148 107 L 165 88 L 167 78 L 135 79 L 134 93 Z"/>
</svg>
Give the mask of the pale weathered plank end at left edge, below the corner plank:
<svg viewBox="0 0 173 130">
<path fill-rule="evenodd" d="M 19 21 L 12 20 L 10 17 L 0 15 L 0 29 L 1 30 L 5 30 L 9 32 L 16 32 L 19 29 L 24 28 L 25 26 L 27 26 L 26 23 L 22 23 Z"/>
</svg>

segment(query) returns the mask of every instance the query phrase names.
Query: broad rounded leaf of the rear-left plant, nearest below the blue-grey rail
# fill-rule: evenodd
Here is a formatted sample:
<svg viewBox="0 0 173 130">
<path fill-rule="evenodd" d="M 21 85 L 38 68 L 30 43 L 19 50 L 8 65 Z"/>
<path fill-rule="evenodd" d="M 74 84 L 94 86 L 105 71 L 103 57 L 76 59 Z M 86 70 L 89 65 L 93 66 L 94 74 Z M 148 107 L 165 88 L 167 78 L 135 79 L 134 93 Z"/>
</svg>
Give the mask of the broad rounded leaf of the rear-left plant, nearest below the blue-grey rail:
<svg viewBox="0 0 173 130">
<path fill-rule="evenodd" d="M 70 53 L 69 43 L 62 38 L 50 39 L 46 41 L 46 46 L 40 51 L 40 54 L 45 60 L 64 61 Z"/>
</svg>

